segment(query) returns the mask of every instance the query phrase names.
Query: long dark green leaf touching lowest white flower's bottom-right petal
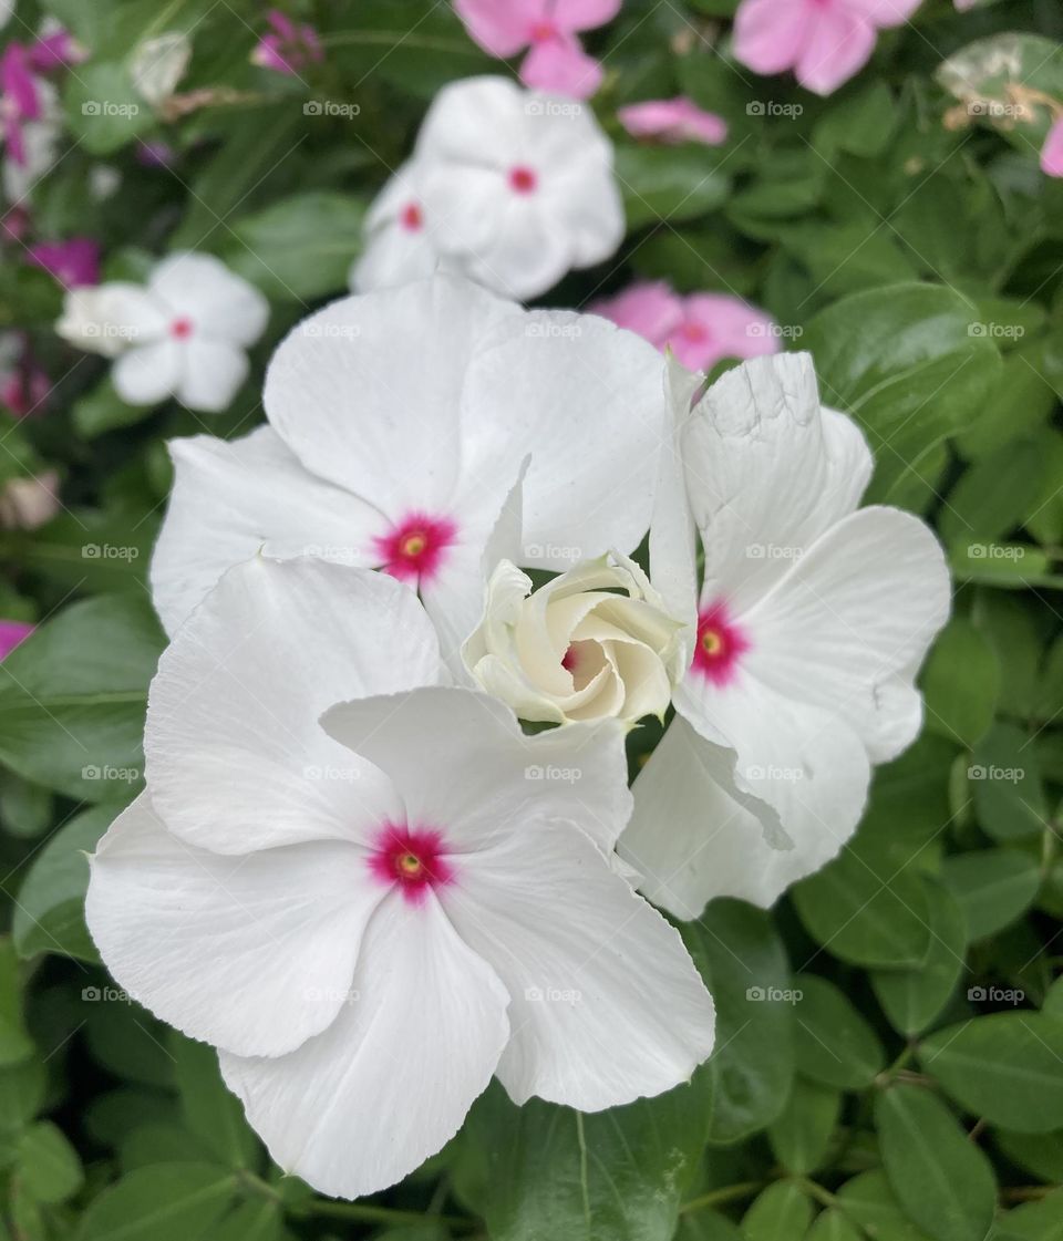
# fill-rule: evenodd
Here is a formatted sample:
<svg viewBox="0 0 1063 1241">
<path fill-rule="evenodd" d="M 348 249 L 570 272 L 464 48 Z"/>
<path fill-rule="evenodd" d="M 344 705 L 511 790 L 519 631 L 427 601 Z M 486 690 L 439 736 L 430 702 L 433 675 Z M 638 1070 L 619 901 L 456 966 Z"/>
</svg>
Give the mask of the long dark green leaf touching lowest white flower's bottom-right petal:
<svg viewBox="0 0 1063 1241">
<path fill-rule="evenodd" d="M 708 1082 L 709 1140 L 738 1142 L 782 1111 L 794 1073 L 790 965 L 771 918 L 741 901 L 713 901 L 683 939 L 717 1005 Z"/>
</svg>

